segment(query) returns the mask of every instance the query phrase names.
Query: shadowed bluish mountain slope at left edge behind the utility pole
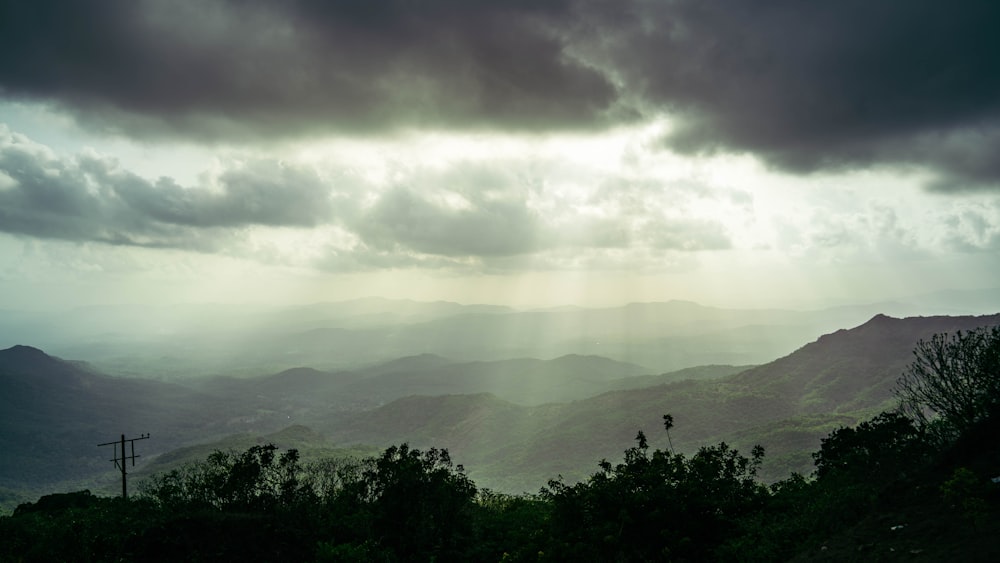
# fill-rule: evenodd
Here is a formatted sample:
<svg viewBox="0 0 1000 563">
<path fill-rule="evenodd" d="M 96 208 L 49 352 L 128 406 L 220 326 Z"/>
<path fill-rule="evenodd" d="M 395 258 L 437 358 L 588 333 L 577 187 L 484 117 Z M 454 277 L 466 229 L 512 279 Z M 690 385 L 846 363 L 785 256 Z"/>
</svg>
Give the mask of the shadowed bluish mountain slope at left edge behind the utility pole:
<svg viewBox="0 0 1000 563">
<path fill-rule="evenodd" d="M 0 350 L 0 486 L 41 485 L 114 470 L 97 444 L 152 434 L 142 455 L 231 433 L 217 397 L 113 378 L 28 346 Z M 110 450 L 110 448 L 107 448 Z"/>
</svg>

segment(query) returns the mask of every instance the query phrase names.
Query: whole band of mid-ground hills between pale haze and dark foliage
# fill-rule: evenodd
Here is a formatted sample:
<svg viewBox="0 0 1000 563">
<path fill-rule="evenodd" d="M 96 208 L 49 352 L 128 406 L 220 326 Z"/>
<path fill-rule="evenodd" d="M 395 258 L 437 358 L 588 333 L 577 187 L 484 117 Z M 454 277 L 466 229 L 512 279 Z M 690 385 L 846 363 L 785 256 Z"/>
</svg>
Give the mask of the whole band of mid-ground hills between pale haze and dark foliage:
<svg viewBox="0 0 1000 563">
<path fill-rule="evenodd" d="M 123 432 L 152 435 L 138 446 L 140 466 L 160 456 L 157 466 L 169 467 L 190 459 L 171 457 L 178 448 L 256 442 L 290 426 L 300 430 L 289 447 L 448 448 L 477 483 L 513 492 L 583 477 L 601 458 L 619 457 L 639 430 L 652 445 L 685 452 L 720 440 L 744 450 L 760 443 L 763 476 L 774 479 L 808 472 L 809 452 L 830 430 L 891 407 L 918 340 L 998 324 L 1000 315 L 876 315 L 756 367 L 659 375 L 593 355 L 421 354 L 349 370 L 164 382 L 14 346 L 0 351 L 0 487 L 113 486 L 112 452 L 96 445 Z M 675 421 L 669 440 L 667 413 Z"/>
</svg>

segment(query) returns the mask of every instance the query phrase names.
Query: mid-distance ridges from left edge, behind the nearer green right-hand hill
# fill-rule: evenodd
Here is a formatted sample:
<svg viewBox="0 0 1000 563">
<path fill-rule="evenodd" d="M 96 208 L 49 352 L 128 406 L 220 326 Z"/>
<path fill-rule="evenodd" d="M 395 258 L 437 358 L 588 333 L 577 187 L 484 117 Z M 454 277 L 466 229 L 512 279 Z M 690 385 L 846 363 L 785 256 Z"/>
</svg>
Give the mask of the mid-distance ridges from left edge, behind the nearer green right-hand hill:
<svg viewBox="0 0 1000 563">
<path fill-rule="evenodd" d="M 585 369 L 588 364 L 597 367 Z M 371 408 L 413 391 L 430 393 L 451 385 L 453 391 L 468 392 L 499 378 L 500 386 L 518 392 L 518 381 L 541 379 L 550 366 L 553 381 L 568 386 L 553 391 L 563 397 L 587 388 L 575 372 L 590 373 L 596 388 L 604 390 L 605 382 L 645 371 L 581 356 L 461 364 L 424 354 L 356 372 L 293 368 L 268 377 L 214 378 L 185 386 L 111 377 L 85 363 L 17 345 L 0 350 L 0 449 L 5 452 L 0 486 L 109 474 L 114 468 L 95 445 L 121 433 L 152 433 L 153 439 L 143 443 L 143 455 L 151 457 L 233 433 L 266 434 L 290 424 L 320 423 L 338 412 Z M 38 447 L 42 443 L 44 450 Z"/>
</svg>

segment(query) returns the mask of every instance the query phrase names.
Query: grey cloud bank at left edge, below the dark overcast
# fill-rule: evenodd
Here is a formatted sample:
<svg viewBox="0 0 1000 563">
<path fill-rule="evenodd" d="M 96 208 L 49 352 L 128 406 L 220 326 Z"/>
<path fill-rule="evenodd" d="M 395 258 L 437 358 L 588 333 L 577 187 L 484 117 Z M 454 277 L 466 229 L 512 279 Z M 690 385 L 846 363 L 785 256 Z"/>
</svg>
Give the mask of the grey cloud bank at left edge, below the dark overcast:
<svg viewBox="0 0 1000 563">
<path fill-rule="evenodd" d="M 185 189 L 0 134 L 0 174 L 0 231 L 41 238 L 211 250 L 226 230 L 314 226 L 332 215 L 315 174 L 280 163 L 250 163 L 214 189 Z"/>
</svg>

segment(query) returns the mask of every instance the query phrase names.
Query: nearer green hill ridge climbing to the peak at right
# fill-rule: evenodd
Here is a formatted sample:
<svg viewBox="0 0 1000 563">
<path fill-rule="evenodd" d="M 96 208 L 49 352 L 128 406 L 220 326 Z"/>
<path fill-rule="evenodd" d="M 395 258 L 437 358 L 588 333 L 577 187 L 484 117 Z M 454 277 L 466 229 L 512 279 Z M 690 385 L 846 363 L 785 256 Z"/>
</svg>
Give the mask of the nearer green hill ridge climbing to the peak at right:
<svg viewBox="0 0 1000 563">
<path fill-rule="evenodd" d="M 876 316 L 794 353 L 728 378 L 614 391 L 560 405 L 519 407 L 490 395 L 413 397 L 331 419 L 340 441 L 411 441 L 453 450 L 484 484 L 532 489 L 562 473 L 578 478 L 614 459 L 643 429 L 665 446 L 660 417 L 671 413 L 675 447 L 728 440 L 769 451 L 773 477 L 808 472 L 808 453 L 838 425 L 892 402 L 892 388 L 921 338 L 1000 324 L 1000 315 L 893 319 Z"/>
</svg>

